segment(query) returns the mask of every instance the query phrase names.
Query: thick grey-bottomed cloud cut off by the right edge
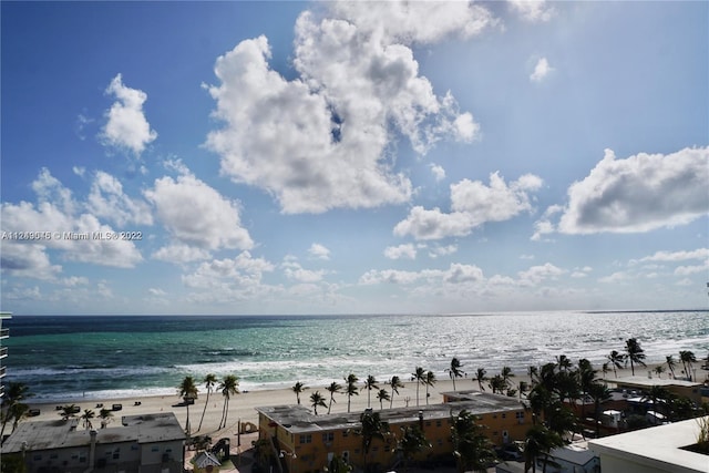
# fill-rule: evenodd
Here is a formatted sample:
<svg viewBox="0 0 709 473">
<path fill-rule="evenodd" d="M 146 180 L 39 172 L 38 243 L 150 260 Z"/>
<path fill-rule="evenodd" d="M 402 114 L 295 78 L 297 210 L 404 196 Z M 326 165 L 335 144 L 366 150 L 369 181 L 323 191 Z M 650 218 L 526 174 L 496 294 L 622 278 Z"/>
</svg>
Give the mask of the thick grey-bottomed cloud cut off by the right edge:
<svg viewBox="0 0 709 473">
<path fill-rule="evenodd" d="M 568 203 L 553 206 L 537 222 L 533 239 L 559 232 L 571 235 L 645 233 L 685 225 L 709 212 L 709 147 L 676 153 L 640 153 L 604 158 L 568 188 Z M 552 218 L 559 214 L 558 224 Z"/>
</svg>

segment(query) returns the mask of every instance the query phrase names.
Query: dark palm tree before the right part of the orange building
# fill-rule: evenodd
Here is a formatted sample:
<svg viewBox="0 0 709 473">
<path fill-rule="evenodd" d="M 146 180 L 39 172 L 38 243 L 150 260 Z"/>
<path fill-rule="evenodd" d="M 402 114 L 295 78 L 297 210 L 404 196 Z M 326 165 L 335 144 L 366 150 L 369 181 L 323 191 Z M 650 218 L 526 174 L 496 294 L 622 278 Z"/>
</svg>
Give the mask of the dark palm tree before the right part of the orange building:
<svg viewBox="0 0 709 473">
<path fill-rule="evenodd" d="M 462 410 L 452 419 L 453 455 L 459 472 L 482 471 L 496 459 L 484 428 L 475 423 L 475 417 Z"/>
</svg>

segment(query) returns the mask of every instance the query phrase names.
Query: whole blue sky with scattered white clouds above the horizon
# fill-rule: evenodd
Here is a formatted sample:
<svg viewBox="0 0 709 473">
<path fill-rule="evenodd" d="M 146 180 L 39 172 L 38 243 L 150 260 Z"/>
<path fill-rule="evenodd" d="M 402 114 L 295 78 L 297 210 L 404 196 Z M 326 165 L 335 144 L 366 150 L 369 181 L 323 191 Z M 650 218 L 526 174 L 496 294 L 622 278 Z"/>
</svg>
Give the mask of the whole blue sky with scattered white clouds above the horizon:
<svg viewBox="0 0 709 473">
<path fill-rule="evenodd" d="M 11 2 L 16 315 L 709 306 L 707 2 Z"/>
</svg>

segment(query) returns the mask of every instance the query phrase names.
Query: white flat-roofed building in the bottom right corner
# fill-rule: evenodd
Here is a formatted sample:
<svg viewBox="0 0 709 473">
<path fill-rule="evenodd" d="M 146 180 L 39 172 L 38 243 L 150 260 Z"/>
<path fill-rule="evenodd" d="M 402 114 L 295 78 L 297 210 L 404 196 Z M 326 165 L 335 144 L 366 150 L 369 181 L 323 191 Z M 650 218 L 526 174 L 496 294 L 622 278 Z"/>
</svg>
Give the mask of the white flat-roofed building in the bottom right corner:
<svg viewBox="0 0 709 473">
<path fill-rule="evenodd" d="M 698 433 L 699 420 L 691 419 L 592 440 L 588 448 L 603 473 L 706 473 L 709 456 L 686 450 Z"/>
</svg>

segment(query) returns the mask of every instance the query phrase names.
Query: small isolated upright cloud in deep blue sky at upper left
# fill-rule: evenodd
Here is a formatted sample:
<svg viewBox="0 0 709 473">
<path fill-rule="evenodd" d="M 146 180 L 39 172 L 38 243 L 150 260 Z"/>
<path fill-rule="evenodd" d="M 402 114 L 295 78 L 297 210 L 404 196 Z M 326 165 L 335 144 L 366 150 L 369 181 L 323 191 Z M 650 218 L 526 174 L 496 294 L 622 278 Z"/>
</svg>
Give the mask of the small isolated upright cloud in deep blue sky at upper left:
<svg viewBox="0 0 709 473">
<path fill-rule="evenodd" d="M 143 113 L 147 94 L 123 85 L 121 74 L 113 78 L 106 94 L 113 95 L 116 102 L 106 112 L 107 122 L 101 138 L 109 145 L 127 148 L 140 155 L 157 137 Z"/>
</svg>

